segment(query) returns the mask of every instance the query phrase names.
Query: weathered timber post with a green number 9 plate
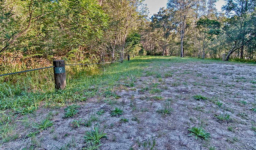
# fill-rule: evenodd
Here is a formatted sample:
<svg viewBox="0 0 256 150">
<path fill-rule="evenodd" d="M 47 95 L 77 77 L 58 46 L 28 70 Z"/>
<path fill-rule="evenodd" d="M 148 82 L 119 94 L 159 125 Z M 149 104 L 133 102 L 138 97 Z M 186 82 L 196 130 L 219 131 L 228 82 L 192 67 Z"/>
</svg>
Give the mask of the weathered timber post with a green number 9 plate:
<svg viewBox="0 0 256 150">
<path fill-rule="evenodd" d="M 64 60 L 53 61 L 55 89 L 64 89 L 66 87 L 66 72 Z"/>
</svg>

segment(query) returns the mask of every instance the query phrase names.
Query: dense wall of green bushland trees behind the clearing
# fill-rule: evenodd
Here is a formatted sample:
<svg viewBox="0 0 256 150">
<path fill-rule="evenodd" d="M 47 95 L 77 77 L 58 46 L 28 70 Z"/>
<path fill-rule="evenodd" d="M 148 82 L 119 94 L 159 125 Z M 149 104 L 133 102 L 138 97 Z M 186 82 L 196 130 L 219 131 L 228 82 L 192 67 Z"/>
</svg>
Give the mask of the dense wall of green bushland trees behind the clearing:
<svg viewBox="0 0 256 150">
<path fill-rule="evenodd" d="M 138 55 L 255 61 L 255 0 L 0 0 L 0 72 Z"/>
</svg>

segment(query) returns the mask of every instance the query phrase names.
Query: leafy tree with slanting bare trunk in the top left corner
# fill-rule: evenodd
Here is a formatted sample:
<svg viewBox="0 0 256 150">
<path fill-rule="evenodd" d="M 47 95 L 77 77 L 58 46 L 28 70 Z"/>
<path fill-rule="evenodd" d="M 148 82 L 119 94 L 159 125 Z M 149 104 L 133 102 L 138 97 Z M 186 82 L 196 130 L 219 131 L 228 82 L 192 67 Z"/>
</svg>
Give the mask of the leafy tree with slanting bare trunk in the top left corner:
<svg viewBox="0 0 256 150">
<path fill-rule="evenodd" d="M 22 36 L 39 25 L 54 12 L 51 0 L 5 0 L 0 1 L 0 53 L 7 50 Z"/>
</svg>

